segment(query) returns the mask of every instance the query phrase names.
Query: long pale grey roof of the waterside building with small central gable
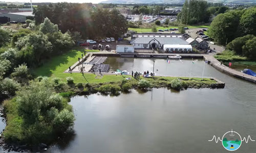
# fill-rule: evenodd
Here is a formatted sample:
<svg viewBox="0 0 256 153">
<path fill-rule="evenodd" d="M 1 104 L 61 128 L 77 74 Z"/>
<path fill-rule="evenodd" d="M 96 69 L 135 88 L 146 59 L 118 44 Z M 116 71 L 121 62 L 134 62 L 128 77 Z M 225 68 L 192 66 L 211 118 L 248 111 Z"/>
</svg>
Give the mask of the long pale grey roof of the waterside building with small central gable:
<svg viewBox="0 0 256 153">
<path fill-rule="evenodd" d="M 160 44 L 188 44 L 185 40 L 181 38 L 168 38 L 168 37 L 138 37 L 131 40 L 131 44 L 147 44 L 150 41 L 158 41 Z"/>
</svg>

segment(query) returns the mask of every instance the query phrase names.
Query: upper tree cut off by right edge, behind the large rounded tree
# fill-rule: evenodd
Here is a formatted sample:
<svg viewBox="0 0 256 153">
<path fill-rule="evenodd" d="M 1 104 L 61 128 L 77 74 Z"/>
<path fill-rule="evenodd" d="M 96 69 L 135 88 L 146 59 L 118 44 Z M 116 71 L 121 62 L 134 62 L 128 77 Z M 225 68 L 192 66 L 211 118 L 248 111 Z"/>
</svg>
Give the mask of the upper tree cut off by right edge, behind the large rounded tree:
<svg viewBox="0 0 256 153">
<path fill-rule="evenodd" d="M 245 35 L 256 35 L 256 8 L 247 9 L 241 19 L 240 25 Z"/>
</svg>

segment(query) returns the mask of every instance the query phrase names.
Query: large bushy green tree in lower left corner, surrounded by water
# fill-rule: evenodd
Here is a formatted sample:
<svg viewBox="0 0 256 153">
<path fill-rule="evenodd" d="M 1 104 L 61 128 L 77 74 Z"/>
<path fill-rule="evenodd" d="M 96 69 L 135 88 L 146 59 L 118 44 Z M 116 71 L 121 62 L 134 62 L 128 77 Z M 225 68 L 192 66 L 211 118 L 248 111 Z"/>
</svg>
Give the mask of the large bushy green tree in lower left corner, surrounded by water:
<svg viewBox="0 0 256 153">
<path fill-rule="evenodd" d="M 4 137 L 14 142 L 38 144 L 56 139 L 58 134 L 63 134 L 68 127 L 73 125 L 74 114 L 67 100 L 55 93 L 49 79 L 40 82 L 33 81 L 16 94 L 15 106 L 17 113 L 12 114 L 13 119 L 19 124 L 7 125 Z M 8 103 L 12 103 L 11 101 Z M 10 110 L 6 106 L 7 110 Z M 12 112 L 9 112 L 12 113 Z M 10 123 L 13 120 L 9 120 Z"/>
</svg>

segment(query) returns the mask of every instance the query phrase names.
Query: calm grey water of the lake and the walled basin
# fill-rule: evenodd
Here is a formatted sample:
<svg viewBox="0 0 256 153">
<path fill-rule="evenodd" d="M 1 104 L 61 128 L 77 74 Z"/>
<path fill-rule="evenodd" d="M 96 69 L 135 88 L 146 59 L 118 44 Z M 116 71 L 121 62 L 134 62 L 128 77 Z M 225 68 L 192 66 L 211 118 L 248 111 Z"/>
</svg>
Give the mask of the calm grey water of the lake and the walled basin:
<svg viewBox="0 0 256 153">
<path fill-rule="evenodd" d="M 204 61 L 155 59 L 159 75 L 201 76 Z M 113 70 L 153 71 L 153 59 L 109 58 Z M 205 77 L 226 83 L 224 89 L 165 88 L 132 90 L 119 96 L 92 94 L 71 98 L 74 135 L 45 152 L 229 152 L 208 142 L 233 129 L 256 139 L 256 85 L 230 77 L 205 64 Z M 254 152 L 244 141 L 236 152 Z"/>
</svg>

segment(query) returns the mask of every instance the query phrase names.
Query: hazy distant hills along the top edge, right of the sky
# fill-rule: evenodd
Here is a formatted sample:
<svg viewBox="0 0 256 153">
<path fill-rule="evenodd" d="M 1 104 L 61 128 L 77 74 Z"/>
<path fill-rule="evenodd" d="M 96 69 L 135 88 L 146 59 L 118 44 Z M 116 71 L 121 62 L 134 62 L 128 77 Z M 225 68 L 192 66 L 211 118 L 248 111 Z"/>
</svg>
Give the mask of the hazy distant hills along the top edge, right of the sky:
<svg viewBox="0 0 256 153">
<path fill-rule="evenodd" d="M 236 3 L 236 4 L 256 4 L 255 0 L 206 0 L 207 2 L 214 2 L 214 3 Z M 112 3 L 112 4 L 183 4 L 185 0 L 108 0 L 102 1 L 101 3 Z"/>
</svg>

